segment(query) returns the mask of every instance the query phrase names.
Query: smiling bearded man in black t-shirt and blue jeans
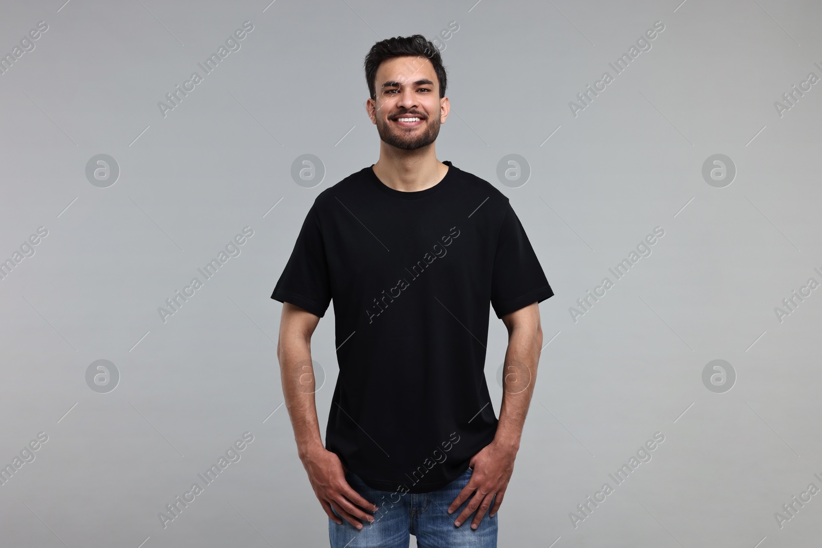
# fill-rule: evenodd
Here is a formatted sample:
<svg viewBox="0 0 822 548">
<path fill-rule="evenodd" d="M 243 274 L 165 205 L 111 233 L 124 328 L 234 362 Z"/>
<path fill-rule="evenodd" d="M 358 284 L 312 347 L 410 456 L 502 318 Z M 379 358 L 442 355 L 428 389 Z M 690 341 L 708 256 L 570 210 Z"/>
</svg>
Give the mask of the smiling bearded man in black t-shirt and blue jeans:
<svg viewBox="0 0 822 548">
<path fill-rule="evenodd" d="M 332 548 L 407 548 L 409 533 L 420 548 L 496 546 L 543 343 L 538 302 L 553 292 L 506 196 L 436 159 L 450 104 L 433 44 L 383 40 L 365 71 L 380 158 L 316 197 L 271 296 L 298 454 Z M 324 447 L 311 336 L 332 299 Z M 489 304 L 509 333 L 498 420 Z"/>
</svg>

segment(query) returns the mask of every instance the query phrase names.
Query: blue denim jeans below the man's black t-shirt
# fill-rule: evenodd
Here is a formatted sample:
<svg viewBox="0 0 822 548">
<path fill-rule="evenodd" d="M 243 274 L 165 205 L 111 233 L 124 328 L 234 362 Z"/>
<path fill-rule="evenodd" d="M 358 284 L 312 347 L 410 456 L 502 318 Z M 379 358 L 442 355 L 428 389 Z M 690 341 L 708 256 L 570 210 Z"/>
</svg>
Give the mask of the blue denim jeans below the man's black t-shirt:
<svg viewBox="0 0 822 548">
<path fill-rule="evenodd" d="M 376 504 L 377 510 L 366 511 L 374 522 L 360 520 L 363 528 L 359 530 L 335 510 L 343 523 L 328 520 L 331 548 L 408 548 L 409 535 L 417 537 L 418 548 L 496 548 L 496 514 L 489 517 L 486 513 L 476 529 L 471 528 L 474 513 L 459 527 L 454 525 L 473 495 L 454 513 L 448 513 L 448 507 L 468 484 L 472 472 L 469 467 L 447 486 L 419 494 L 372 489 L 353 472 L 346 472 L 345 481 L 365 500 Z M 489 511 L 491 508 L 493 502 Z"/>
</svg>

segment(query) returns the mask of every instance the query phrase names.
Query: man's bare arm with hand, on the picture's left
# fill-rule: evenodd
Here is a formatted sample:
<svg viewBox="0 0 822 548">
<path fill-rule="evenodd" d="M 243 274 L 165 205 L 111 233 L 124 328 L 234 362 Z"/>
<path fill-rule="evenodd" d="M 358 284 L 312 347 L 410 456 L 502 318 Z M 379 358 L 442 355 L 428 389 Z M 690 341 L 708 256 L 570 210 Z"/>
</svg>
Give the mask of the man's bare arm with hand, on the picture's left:
<svg viewBox="0 0 822 548">
<path fill-rule="evenodd" d="M 320 318 L 289 302 L 283 304 L 279 322 L 277 358 L 283 385 L 285 406 L 289 410 L 297 452 L 308 474 L 316 498 L 328 517 L 342 521 L 332 508 L 354 527 L 361 529 L 359 519 L 374 518 L 362 509 L 376 510 L 345 481 L 345 469 L 339 457 L 322 444 L 320 424 L 316 417 L 314 368 L 311 360 L 311 337 Z"/>
</svg>

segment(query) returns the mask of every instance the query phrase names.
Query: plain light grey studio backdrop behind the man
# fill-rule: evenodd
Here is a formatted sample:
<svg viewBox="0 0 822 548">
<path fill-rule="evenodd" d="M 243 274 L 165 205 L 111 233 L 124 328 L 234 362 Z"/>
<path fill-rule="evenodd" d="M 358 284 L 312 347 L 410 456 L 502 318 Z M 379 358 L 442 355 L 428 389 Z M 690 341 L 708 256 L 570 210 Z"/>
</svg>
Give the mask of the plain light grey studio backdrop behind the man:
<svg viewBox="0 0 822 548">
<path fill-rule="evenodd" d="M 510 197 L 556 292 L 499 546 L 820 542 L 822 495 L 774 518 L 822 488 L 820 290 L 774 313 L 822 281 L 822 84 L 774 108 L 822 76 L 818 2 L 2 2 L 0 53 L 38 21 L 0 76 L 0 259 L 48 229 L 0 281 L 0 461 L 48 442 L 0 486 L 3 546 L 327 546 L 281 407 L 270 292 L 316 195 L 378 158 L 368 48 L 450 21 L 437 156 Z M 242 48 L 163 117 L 157 102 L 242 21 Z M 574 117 L 654 21 L 651 50 Z M 86 179 L 95 154 L 118 162 L 113 186 Z M 316 187 L 290 176 L 301 154 L 325 165 Z M 529 162 L 524 186 L 496 179 L 506 154 Z M 704 181 L 712 154 L 736 164 L 731 185 Z M 245 226 L 241 255 L 163 323 L 157 308 Z M 655 226 L 652 255 L 571 320 Z M 498 413 L 506 329 L 491 321 Z M 333 322 L 332 306 L 312 341 L 323 435 Z M 99 359 L 120 374 L 106 394 L 85 382 Z M 723 394 L 702 382 L 714 359 L 737 374 Z M 242 459 L 164 529 L 164 505 L 244 431 Z M 653 459 L 573 527 L 656 431 Z"/>
</svg>

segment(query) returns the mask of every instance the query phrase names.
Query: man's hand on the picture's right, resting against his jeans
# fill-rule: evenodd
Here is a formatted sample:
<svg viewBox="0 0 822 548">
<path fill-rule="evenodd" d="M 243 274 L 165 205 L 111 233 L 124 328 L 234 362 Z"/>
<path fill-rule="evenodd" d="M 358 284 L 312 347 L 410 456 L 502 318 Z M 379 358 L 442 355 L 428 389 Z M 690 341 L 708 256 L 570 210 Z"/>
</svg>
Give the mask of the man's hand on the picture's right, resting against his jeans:
<svg viewBox="0 0 822 548">
<path fill-rule="evenodd" d="M 500 509 L 502 497 L 508 488 L 511 474 L 514 473 L 514 458 L 517 449 L 513 444 L 494 440 L 471 458 L 469 461 L 469 466 L 473 468 L 471 479 L 448 507 L 448 513 L 453 513 L 458 509 L 474 491 L 476 491 L 476 494 L 473 495 L 469 504 L 456 518 L 455 526 L 462 525 L 471 513 L 476 510 L 477 514 L 473 518 L 471 528 L 476 529 L 479 527 L 479 523 L 491 506 L 492 499 L 494 500 L 494 506 L 488 515 L 493 516 Z"/>
</svg>

